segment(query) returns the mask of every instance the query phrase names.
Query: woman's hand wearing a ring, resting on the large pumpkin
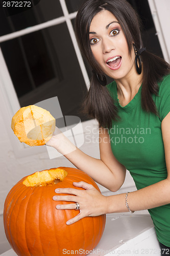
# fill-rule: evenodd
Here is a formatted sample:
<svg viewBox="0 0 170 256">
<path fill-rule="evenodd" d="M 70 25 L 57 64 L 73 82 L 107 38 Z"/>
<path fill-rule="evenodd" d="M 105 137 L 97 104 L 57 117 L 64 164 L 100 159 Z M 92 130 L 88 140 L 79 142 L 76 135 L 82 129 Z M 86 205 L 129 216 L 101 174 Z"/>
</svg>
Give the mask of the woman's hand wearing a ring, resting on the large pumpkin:
<svg viewBox="0 0 170 256">
<path fill-rule="evenodd" d="M 55 201 L 67 201 L 67 202 L 77 202 L 80 205 L 80 213 L 68 220 L 67 225 L 73 224 L 84 217 L 94 217 L 102 214 L 106 214 L 107 209 L 107 197 L 103 196 L 100 191 L 98 191 L 93 185 L 88 184 L 84 181 L 73 182 L 76 187 L 82 187 L 84 189 L 76 188 L 57 188 L 55 192 L 58 194 L 71 194 L 68 196 L 54 196 Z M 75 196 L 72 196 L 75 195 Z M 59 209 L 75 209 L 76 204 L 62 204 L 57 205 L 56 208 Z"/>
</svg>

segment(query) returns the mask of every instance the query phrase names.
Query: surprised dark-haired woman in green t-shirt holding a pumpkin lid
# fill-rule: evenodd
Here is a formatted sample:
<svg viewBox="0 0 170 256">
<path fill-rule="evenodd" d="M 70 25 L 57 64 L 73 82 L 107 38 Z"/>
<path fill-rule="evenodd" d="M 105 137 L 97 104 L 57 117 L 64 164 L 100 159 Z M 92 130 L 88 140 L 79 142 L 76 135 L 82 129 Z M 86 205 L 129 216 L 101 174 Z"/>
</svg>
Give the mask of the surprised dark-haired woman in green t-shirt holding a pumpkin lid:
<svg viewBox="0 0 170 256">
<path fill-rule="evenodd" d="M 76 19 L 82 53 L 93 75 L 84 102 L 87 112 L 99 121 L 100 157 L 94 159 L 76 148 L 62 133 L 47 145 L 55 147 L 96 182 L 118 190 L 126 169 L 137 191 L 105 197 L 93 186 L 57 189 L 76 196 L 80 214 L 87 216 L 149 209 L 164 254 L 170 247 L 170 75 L 169 65 L 143 48 L 139 20 L 125 0 L 87 0 Z M 142 61 L 142 62 L 141 62 Z M 105 75 L 113 78 L 106 87 Z M 132 136 L 133 135 L 133 136 Z M 75 196 L 54 196 L 73 201 Z M 57 205 L 75 209 L 75 203 Z"/>
</svg>

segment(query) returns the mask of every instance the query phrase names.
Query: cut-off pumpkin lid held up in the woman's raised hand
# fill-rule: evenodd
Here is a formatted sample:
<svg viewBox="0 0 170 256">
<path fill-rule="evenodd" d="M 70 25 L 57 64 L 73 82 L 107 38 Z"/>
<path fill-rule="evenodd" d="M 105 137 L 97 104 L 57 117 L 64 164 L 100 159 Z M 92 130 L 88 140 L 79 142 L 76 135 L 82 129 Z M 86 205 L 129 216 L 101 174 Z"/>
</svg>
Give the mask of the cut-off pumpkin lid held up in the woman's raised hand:
<svg viewBox="0 0 170 256">
<path fill-rule="evenodd" d="M 36 105 L 23 106 L 12 118 L 11 128 L 20 142 L 44 145 L 51 139 L 56 120 L 49 111 Z"/>
</svg>

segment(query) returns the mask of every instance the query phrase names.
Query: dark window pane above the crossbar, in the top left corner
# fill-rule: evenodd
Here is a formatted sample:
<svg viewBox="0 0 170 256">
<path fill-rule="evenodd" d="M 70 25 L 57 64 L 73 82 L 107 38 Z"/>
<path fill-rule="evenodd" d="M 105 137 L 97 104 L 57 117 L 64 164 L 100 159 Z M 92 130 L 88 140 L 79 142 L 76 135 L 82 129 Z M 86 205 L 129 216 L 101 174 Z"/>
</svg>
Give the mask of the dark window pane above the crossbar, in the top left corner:
<svg viewBox="0 0 170 256">
<path fill-rule="evenodd" d="M 2 7 L 2 3 L 0 1 L 0 22 L 3 24 L 0 36 L 63 16 L 58 0 L 34 0 L 32 7 Z"/>
</svg>

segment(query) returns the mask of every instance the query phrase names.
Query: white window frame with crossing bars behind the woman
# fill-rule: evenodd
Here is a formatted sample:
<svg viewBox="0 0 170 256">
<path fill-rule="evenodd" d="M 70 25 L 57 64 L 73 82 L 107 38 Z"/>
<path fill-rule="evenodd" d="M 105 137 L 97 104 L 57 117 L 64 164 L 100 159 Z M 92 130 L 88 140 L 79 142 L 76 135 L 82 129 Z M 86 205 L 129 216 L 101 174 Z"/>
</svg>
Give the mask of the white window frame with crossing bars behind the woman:
<svg viewBox="0 0 170 256">
<path fill-rule="evenodd" d="M 68 13 L 65 0 L 59 0 L 61 4 L 61 8 L 63 11 L 63 16 L 55 18 L 45 23 L 41 23 L 39 25 L 35 25 L 30 28 L 22 29 L 20 31 L 16 31 L 7 35 L 0 36 L 0 42 L 7 41 L 22 35 L 26 35 L 44 28 L 56 26 L 58 24 L 66 22 L 72 44 L 74 46 L 76 56 L 79 61 L 80 69 L 86 84 L 87 89 L 89 89 L 89 77 L 84 65 L 84 61 L 82 55 L 80 53 L 80 49 L 77 44 L 76 36 L 74 29 L 71 24 L 71 19 L 75 18 L 77 12 Z M 13 115 L 20 109 L 20 104 L 18 97 L 16 95 L 13 82 L 11 80 L 2 50 L 0 48 L 0 108 L 2 110 L 3 120 L 6 125 L 6 130 L 9 135 L 9 139 L 11 145 L 13 147 L 15 156 L 25 157 L 34 154 L 40 154 L 46 151 L 44 147 L 29 147 L 24 143 L 20 143 L 19 140 L 14 136 L 13 131 L 11 129 L 11 120 Z"/>
</svg>

